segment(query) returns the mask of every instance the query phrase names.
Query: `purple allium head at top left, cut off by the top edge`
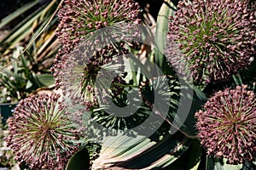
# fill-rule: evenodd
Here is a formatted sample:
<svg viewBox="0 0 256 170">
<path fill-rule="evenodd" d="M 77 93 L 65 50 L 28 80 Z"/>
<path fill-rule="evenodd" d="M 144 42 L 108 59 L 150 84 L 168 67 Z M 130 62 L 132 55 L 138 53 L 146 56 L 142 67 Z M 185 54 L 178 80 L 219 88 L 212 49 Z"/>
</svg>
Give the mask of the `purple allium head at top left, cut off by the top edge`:
<svg viewBox="0 0 256 170">
<path fill-rule="evenodd" d="M 97 44 L 112 44 L 116 46 L 115 48 L 119 48 L 124 45 L 122 42 L 124 39 L 127 41 L 127 37 L 132 36 L 131 40 L 138 37 L 134 26 L 127 25 L 127 23 L 139 21 L 139 6 L 133 0 L 66 0 L 58 15 L 60 23 L 56 34 L 61 41 L 61 49 L 56 54 L 54 66 L 51 68 L 56 77 L 57 88 L 60 87 L 61 81 L 58 77 L 60 77 L 60 72 L 65 69 L 64 63 L 67 63 L 69 54 L 73 53 L 79 43 L 85 42 L 90 46 L 90 42 L 95 41 Z M 122 38 L 123 36 L 126 38 Z M 86 42 L 87 40 L 90 42 Z M 97 50 L 95 43 L 91 46 L 90 51 Z M 93 58 L 96 59 L 96 56 Z M 94 62 L 95 64 L 96 62 Z"/>
</svg>

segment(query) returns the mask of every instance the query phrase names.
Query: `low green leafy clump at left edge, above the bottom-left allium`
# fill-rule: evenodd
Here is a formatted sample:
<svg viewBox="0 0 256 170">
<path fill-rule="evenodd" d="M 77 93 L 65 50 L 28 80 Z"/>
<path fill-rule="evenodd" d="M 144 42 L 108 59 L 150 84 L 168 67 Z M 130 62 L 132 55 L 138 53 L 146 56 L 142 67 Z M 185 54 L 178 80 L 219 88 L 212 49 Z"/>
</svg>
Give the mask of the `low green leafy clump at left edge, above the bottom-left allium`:
<svg viewBox="0 0 256 170">
<path fill-rule="evenodd" d="M 0 103 L 17 102 L 37 88 L 49 86 L 54 82 L 50 74 L 37 75 L 31 71 L 30 62 L 25 59 L 21 47 L 14 51 L 13 57 L 16 59 L 18 56 L 20 56 L 20 60 L 15 61 L 9 68 L 0 72 L 0 86 L 2 88 Z"/>
</svg>

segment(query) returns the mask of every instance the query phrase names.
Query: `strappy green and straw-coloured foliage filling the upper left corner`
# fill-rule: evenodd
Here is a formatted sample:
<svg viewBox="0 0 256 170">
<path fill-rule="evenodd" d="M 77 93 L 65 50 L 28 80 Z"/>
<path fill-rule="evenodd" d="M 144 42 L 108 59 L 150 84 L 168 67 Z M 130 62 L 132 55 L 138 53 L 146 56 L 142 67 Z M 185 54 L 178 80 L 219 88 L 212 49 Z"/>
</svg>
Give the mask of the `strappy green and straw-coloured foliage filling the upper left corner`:
<svg viewBox="0 0 256 170">
<path fill-rule="evenodd" d="M 54 84 L 49 67 L 58 48 L 54 33 L 58 3 L 32 1 L 1 20 L 3 28 L 21 19 L 0 40 L 0 103 L 17 102 L 38 88 Z"/>
</svg>

